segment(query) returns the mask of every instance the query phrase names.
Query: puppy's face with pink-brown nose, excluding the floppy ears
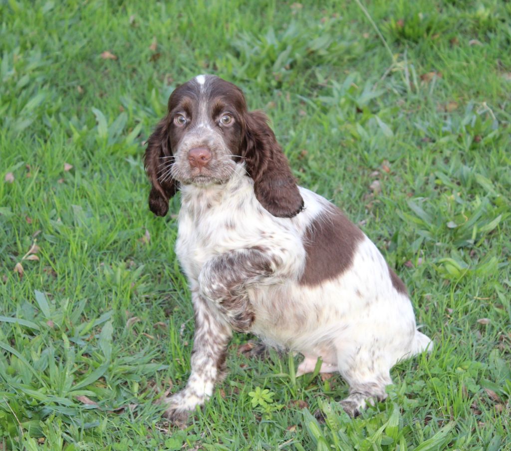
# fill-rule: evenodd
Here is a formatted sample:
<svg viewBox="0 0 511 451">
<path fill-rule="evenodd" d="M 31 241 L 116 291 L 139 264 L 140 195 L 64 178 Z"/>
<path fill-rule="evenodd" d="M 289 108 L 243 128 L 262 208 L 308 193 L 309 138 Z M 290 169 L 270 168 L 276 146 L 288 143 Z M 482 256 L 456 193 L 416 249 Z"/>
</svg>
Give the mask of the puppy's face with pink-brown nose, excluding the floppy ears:
<svg viewBox="0 0 511 451">
<path fill-rule="evenodd" d="M 169 99 L 175 161 L 162 162 L 165 177 L 183 184 L 225 183 L 240 160 L 246 111 L 240 89 L 219 78 L 199 76 L 179 86 Z"/>
</svg>

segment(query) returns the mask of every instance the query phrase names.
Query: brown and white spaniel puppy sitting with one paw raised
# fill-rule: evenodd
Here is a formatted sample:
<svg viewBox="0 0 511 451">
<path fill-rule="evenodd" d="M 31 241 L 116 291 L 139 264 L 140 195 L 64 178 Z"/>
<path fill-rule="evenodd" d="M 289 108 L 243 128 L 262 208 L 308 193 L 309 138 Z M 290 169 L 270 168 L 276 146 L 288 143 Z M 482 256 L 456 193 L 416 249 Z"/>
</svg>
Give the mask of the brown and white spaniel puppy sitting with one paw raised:
<svg viewBox="0 0 511 451">
<path fill-rule="evenodd" d="M 296 185 L 235 85 L 200 75 L 176 88 L 145 166 L 153 213 L 181 190 L 176 252 L 195 311 L 190 379 L 166 399 L 172 421 L 212 395 L 233 330 L 303 354 L 298 374 L 320 357 L 349 384 L 351 415 L 385 398 L 396 362 L 431 347 L 403 282 L 337 207 Z"/>
</svg>

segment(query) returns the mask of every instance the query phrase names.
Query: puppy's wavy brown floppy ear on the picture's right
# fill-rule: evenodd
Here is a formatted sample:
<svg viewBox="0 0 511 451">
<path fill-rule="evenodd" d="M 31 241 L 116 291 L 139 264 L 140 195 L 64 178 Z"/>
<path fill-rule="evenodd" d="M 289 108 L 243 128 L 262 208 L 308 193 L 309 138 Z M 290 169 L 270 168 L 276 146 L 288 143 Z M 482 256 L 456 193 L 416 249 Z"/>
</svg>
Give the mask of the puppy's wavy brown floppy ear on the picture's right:
<svg viewBox="0 0 511 451">
<path fill-rule="evenodd" d="M 255 197 L 273 216 L 291 218 L 304 208 L 288 160 L 261 111 L 245 115 L 241 156 L 254 181 Z"/>
</svg>

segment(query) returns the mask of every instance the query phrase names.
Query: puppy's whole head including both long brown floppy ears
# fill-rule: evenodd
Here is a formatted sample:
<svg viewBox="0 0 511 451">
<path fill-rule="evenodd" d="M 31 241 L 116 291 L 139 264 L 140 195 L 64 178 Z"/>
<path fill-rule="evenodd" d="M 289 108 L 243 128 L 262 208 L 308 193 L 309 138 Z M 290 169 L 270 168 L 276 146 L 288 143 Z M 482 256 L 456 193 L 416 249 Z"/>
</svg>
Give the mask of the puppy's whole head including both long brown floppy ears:
<svg viewBox="0 0 511 451">
<path fill-rule="evenodd" d="M 303 208 L 287 159 L 266 116 L 248 112 L 243 92 L 215 76 L 198 76 L 177 87 L 167 116 L 148 141 L 145 166 L 153 185 L 149 207 L 168 211 L 178 184 L 223 184 L 245 164 L 259 202 L 274 216 Z"/>
</svg>

